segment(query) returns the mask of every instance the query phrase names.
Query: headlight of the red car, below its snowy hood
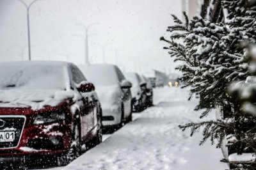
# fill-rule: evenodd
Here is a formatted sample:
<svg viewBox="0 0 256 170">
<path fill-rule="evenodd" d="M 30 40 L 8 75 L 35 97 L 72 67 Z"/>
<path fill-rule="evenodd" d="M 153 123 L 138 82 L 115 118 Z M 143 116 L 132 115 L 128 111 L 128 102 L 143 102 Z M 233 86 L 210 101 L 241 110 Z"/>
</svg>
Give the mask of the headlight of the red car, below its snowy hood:
<svg viewBox="0 0 256 170">
<path fill-rule="evenodd" d="M 34 125 L 52 123 L 60 120 L 65 120 L 65 118 L 65 112 L 48 112 L 44 114 L 38 114 L 35 118 Z"/>
</svg>

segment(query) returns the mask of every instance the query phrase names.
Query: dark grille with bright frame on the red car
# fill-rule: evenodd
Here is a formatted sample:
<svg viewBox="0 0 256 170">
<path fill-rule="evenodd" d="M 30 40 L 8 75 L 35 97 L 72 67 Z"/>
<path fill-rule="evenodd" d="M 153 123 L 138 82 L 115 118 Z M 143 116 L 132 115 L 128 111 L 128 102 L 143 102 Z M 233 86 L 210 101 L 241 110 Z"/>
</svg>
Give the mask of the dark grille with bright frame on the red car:
<svg viewBox="0 0 256 170">
<path fill-rule="evenodd" d="M 0 142 L 0 148 L 15 148 L 18 146 L 20 137 L 23 131 L 24 123 L 26 120 L 25 116 L 0 116 L 0 119 L 3 120 L 4 127 L 0 128 L 0 132 L 4 131 L 6 128 L 15 128 L 15 138 L 12 142 Z M 5 130 L 7 131 L 7 130 Z M 8 130 L 9 131 L 9 130 Z"/>
</svg>

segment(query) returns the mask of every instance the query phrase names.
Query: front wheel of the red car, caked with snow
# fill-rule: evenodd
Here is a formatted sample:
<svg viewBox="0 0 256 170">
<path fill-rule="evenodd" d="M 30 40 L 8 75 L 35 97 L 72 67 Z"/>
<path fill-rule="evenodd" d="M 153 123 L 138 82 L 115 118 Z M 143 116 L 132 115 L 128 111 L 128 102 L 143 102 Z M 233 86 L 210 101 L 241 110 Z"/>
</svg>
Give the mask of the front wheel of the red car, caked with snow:
<svg viewBox="0 0 256 170">
<path fill-rule="evenodd" d="M 72 137 L 70 141 L 70 148 L 67 153 L 58 155 L 57 165 L 65 166 L 79 157 L 81 153 L 81 142 L 79 135 L 79 123 L 75 123 L 72 130 Z"/>
</svg>

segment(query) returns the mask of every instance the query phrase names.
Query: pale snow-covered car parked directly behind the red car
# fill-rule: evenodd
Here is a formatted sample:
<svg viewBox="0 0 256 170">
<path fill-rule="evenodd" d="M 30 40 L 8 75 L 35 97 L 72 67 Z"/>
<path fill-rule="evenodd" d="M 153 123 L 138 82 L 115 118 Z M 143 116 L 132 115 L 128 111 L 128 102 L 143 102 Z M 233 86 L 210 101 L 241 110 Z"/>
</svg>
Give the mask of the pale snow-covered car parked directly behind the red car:
<svg viewBox="0 0 256 170">
<path fill-rule="evenodd" d="M 95 84 L 102 105 L 102 123 L 105 130 L 121 127 L 132 120 L 131 82 L 116 65 L 78 65 L 89 81 Z"/>
</svg>

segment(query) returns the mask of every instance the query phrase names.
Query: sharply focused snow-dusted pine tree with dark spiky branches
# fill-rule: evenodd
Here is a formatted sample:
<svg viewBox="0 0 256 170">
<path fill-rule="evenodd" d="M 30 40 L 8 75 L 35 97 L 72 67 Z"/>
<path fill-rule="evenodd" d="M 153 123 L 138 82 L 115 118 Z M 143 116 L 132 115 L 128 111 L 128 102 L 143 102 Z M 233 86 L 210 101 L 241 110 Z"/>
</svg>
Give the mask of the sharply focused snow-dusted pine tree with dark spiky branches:
<svg viewBox="0 0 256 170">
<path fill-rule="evenodd" d="M 255 43 L 256 10 L 255 6 L 248 6 L 246 0 L 221 3 L 228 9 L 229 22 L 211 23 L 200 16 L 189 20 L 186 13 L 185 21 L 182 22 L 172 15 L 176 24 L 167 29 L 172 35 L 168 40 L 163 37 L 161 40 L 169 43 L 170 47 L 164 49 L 168 49 L 170 56 L 175 57 L 174 61 L 186 62 L 176 69 L 182 72 L 181 81 L 186 82 L 182 88 L 191 87 L 189 100 L 195 93 L 200 95 L 199 104 L 195 107 L 195 111 L 205 109 L 200 118 L 207 116 L 216 107 L 221 111 L 218 120 L 191 122 L 180 128 L 191 128 L 193 135 L 196 129 L 204 126 L 204 138 L 200 144 L 204 144 L 207 139 L 214 144 L 214 139 L 218 139 L 217 148 L 220 148 L 227 134 L 232 134 L 230 137 L 237 139 L 234 143 L 237 153 L 241 154 L 248 134 L 250 137 L 255 134 L 250 128 L 254 128 L 256 121 L 241 114 L 241 102 L 237 96 L 228 93 L 228 87 L 231 82 L 243 81 L 248 76 L 248 64 L 244 63 L 241 42 Z M 175 42 L 177 39 L 182 39 L 184 45 Z"/>
</svg>

